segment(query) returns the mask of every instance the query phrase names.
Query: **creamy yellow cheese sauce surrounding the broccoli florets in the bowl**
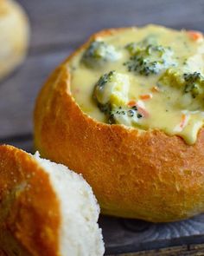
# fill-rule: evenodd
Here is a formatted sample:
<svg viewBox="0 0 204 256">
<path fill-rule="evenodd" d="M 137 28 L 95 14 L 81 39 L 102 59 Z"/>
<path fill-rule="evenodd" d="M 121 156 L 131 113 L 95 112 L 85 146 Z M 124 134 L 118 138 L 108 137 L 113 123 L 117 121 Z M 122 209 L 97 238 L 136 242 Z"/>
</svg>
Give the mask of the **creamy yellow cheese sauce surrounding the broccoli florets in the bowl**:
<svg viewBox="0 0 204 256">
<path fill-rule="evenodd" d="M 157 45 L 172 50 L 170 56 L 173 60 L 172 63 L 170 62 L 170 66 L 165 66 L 163 62 L 162 69 L 156 74 L 139 74 L 134 70 L 129 70 L 125 65 L 131 59 L 130 51 L 126 46 L 129 43 L 144 42 L 146 38 L 154 38 Z M 80 108 L 95 120 L 108 122 L 106 113 L 101 111 L 99 102 L 96 102 L 93 95 L 95 85 L 99 82 L 101 75 L 114 70 L 118 75 L 116 77 L 124 76 L 124 82 L 128 81 L 128 86 L 125 87 L 125 97 L 127 98 L 125 98 L 125 102 L 122 106 L 118 105 L 120 101 L 112 103 L 112 106 L 116 110 L 118 109 L 114 115 L 116 123 L 140 130 L 160 129 L 168 135 L 180 135 L 188 144 L 194 144 L 204 122 L 204 94 L 198 97 L 185 91 L 187 82 L 183 77 L 186 73 L 204 74 L 203 38 L 201 36 L 198 39 L 194 38 L 185 30 L 176 31 L 149 25 L 141 29 L 120 30 L 112 36 L 99 37 L 97 41 L 113 46 L 114 51 L 118 52 L 118 56 L 111 61 L 107 60 L 100 65 L 95 65 L 95 67 L 94 63 L 92 67 L 89 67 L 82 62 L 86 49 L 81 50 L 79 55 L 73 57 L 69 64 L 72 77 L 71 92 Z M 150 57 L 154 58 L 151 53 Z M 166 71 L 167 69 L 168 71 Z M 110 94 L 112 88 L 117 88 L 116 83 L 117 80 L 114 80 L 110 86 L 107 84 L 109 88 L 104 90 L 106 95 L 107 92 Z M 191 86 L 189 82 L 188 86 Z M 120 87 L 118 86 L 118 88 Z M 115 92 L 114 94 L 116 95 Z M 99 97 L 103 98 L 105 95 L 99 94 Z M 111 95 L 107 95 L 107 99 L 108 97 Z M 103 101 L 105 102 L 104 98 Z M 131 109 L 128 102 L 134 101 L 137 103 L 137 113 L 132 112 L 131 114 L 138 116 L 139 112 L 143 115 L 142 118 L 128 115 L 128 110 Z M 120 113 L 120 108 L 127 110 L 124 116 Z M 144 115 L 143 111 L 147 115 Z"/>
</svg>

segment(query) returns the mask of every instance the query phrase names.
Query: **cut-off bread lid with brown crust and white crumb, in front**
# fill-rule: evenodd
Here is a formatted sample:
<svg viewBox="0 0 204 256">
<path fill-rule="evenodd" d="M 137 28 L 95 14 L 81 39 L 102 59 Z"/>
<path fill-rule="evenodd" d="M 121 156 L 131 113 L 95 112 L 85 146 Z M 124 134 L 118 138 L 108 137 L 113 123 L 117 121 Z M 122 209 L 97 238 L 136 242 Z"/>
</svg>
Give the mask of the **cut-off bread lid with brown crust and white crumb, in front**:
<svg viewBox="0 0 204 256">
<path fill-rule="evenodd" d="M 99 206 L 81 175 L 0 146 L 0 254 L 102 256 Z"/>
</svg>

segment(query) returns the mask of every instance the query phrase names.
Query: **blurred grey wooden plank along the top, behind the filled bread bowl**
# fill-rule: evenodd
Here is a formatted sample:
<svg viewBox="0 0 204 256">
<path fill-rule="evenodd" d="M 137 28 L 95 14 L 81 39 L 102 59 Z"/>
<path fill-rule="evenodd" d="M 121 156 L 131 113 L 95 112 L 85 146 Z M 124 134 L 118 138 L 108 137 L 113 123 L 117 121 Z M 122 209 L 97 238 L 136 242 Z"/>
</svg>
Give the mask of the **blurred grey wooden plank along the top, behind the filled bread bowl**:
<svg viewBox="0 0 204 256">
<path fill-rule="evenodd" d="M 97 30 L 162 23 L 173 28 L 203 31 L 202 0 L 19 0 L 32 24 L 32 49 L 79 45 Z"/>
</svg>

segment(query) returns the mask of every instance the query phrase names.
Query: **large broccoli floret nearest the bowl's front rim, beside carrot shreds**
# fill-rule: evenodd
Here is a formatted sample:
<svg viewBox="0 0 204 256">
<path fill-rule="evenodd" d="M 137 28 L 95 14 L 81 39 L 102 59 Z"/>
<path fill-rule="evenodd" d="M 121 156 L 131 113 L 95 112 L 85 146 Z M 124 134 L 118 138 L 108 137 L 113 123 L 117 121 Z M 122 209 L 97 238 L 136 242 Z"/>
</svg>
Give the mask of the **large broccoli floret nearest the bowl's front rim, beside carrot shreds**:
<svg viewBox="0 0 204 256">
<path fill-rule="evenodd" d="M 143 117 L 137 107 L 129 107 L 127 102 L 129 92 L 128 75 L 111 71 L 99 78 L 93 91 L 93 99 L 112 123 L 122 123 L 127 126 L 136 125 Z"/>
</svg>

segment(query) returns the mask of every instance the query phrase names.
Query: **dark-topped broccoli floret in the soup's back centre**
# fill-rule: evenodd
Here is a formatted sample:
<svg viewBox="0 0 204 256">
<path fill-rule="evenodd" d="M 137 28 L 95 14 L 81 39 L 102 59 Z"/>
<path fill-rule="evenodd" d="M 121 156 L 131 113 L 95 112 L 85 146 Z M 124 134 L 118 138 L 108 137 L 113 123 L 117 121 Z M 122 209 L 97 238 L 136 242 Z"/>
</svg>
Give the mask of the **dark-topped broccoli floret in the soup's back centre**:
<svg viewBox="0 0 204 256">
<path fill-rule="evenodd" d="M 174 66 L 173 51 L 169 47 L 145 43 L 130 43 L 126 46 L 131 58 L 124 62 L 129 71 L 140 75 L 156 75 L 163 69 Z"/>
</svg>

